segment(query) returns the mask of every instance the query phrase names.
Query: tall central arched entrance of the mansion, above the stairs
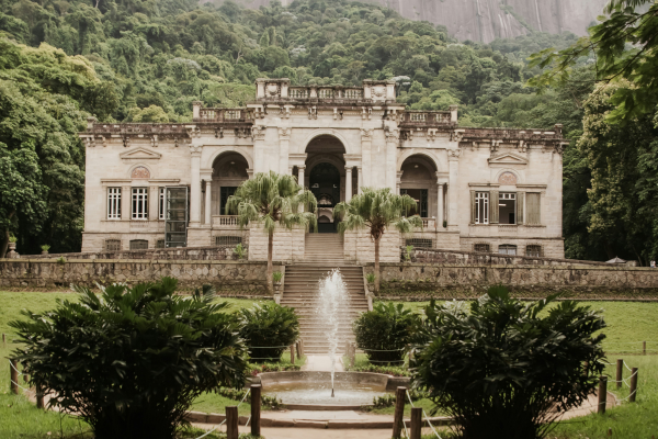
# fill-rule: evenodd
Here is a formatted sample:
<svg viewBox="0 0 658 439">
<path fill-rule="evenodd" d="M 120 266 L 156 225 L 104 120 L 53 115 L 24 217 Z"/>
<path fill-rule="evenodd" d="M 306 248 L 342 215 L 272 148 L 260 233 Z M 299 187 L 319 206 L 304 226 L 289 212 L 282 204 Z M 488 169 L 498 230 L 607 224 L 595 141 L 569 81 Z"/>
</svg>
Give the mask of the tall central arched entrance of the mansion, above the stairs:
<svg viewBox="0 0 658 439">
<path fill-rule="evenodd" d="M 345 147 L 336 137 L 321 135 L 306 147 L 306 184 L 318 200 L 318 232 L 336 233 L 333 207 L 345 200 Z"/>
</svg>

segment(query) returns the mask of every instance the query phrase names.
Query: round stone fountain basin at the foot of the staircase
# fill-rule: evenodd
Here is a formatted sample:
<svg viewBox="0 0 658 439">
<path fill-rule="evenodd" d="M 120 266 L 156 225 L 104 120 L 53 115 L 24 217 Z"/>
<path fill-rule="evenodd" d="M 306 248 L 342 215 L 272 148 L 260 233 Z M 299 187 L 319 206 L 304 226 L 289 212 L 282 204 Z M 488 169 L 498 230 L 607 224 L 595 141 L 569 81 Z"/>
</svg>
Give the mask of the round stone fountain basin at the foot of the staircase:
<svg viewBox="0 0 658 439">
<path fill-rule="evenodd" d="M 296 410 L 359 409 L 390 392 L 389 380 L 400 383 L 383 373 L 336 372 L 331 397 L 331 372 L 264 372 L 259 378 L 263 394 L 276 395 L 288 409 Z"/>
</svg>

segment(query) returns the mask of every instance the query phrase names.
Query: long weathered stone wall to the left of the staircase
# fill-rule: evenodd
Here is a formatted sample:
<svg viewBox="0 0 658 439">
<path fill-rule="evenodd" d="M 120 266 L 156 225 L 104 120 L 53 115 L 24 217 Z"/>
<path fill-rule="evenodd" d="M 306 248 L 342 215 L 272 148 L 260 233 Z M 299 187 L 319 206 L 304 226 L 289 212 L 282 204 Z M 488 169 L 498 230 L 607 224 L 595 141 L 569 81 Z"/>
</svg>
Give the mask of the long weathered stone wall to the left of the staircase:
<svg viewBox="0 0 658 439">
<path fill-rule="evenodd" d="M 282 270 L 276 264 L 274 270 Z M 71 283 L 179 280 L 181 290 L 212 284 L 223 295 L 266 295 L 266 263 L 227 260 L 0 259 L 0 288 L 56 289 Z"/>
</svg>

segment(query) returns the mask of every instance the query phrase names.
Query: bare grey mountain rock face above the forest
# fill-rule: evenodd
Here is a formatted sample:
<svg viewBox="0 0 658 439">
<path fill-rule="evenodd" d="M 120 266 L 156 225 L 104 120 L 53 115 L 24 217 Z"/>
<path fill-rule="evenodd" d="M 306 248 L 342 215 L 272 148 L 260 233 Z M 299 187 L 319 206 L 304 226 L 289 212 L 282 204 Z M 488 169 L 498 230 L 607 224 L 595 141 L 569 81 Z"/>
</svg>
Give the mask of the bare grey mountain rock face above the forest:
<svg viewBox="0 0 658 439">
<path fill-rule="evenodd" d="M 586 35 L 587 27 L 603 13 L 609 0 L 362 0 L 378 3 L 410 20 L 443 24 L 461 40 L 489 43 L 530 32 L 572 32 Z M 259 8 L 269 0 L 239 0 Z M 292 0 L 281 0 L 287 5 Z"/>
</svg>

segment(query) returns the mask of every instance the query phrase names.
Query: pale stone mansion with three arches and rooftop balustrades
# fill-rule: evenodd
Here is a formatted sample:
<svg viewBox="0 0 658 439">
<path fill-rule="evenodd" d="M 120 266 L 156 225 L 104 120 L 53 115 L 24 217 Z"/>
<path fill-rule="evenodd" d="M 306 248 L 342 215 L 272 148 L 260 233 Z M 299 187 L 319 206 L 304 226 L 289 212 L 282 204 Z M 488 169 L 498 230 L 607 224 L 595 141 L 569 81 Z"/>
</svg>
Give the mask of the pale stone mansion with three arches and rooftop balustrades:
<svg viewBox="0 0 658 439">
<path fill-rule="evenodd" d="M 457 108 L 411 111 L 394 81 L 291 86 L 259 79 L 245 108 L 193 103 L 192 122 L 97 123 L 87 148 L 82 251 L 235 246 L 266 258 L 260 227 L 240 229 L 226 201 L 254 172 L 292 173 L 318 200 L 319 233 L 333 206 L 363 187 L 417 201 L 423 227 L 384 235 L 383 261 L 400 246 L 564 258 L 561 126 L 461 127 Z M 274 236 L 274 259 L 304 260 L 304 229 Z M 345 233 L 344 259 L 373 260 L 363 232 Z"/>
</svg>

